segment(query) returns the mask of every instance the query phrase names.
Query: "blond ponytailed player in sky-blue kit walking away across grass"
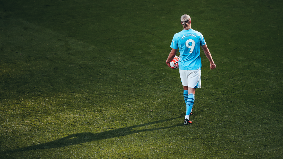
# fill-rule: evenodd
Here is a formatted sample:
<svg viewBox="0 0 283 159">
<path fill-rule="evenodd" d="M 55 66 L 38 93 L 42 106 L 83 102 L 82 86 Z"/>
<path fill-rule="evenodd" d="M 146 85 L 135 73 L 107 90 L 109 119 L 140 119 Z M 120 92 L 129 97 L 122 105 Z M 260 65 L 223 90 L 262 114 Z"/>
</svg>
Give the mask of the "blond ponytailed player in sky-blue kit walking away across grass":
<svg viewBox="0 0 283 159">
<path fill-rule="evenodd" d="M 166 60 L 168 67 L 171 67 L 170 61 L 174 59 L 179 48 L 179 73 L 184 88 L 184 100 L 186 103 L 185 125 L 192 123 L 190 115 L 195 102 L 195 89 L 200 88 L 201 84 L 202 63 L 200 59 L 200 47 L 202 47 L 204 54 L 210 62 L 210 69 L 213 70 L 216 67 L 202 33 L 193 30 L 191 23 L 191 17 L 187 14 L 181 17 L 181 24 L 184 30 L 174 35 L 170 45 L 172 50 Z"/>
</svg>

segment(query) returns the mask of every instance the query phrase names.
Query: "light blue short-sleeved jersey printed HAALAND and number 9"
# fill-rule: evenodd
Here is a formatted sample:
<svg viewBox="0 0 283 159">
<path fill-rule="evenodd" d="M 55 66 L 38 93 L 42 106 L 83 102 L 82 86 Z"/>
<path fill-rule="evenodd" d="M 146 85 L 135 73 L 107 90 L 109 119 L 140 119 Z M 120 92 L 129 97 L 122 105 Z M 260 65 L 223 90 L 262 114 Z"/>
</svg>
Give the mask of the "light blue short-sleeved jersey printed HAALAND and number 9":
<svg viewBox="0 0 283 159">
<path fill-rule="evenodd" d="M 170 45 L 173 49 L 180 52 L 179 69 L 180 70 L 199 70 L 202 67 L 200 59 L 200 45 L 206 42 L 202 33 L 189 29 L 182 30 L 174 35 Z"/>
</svg>

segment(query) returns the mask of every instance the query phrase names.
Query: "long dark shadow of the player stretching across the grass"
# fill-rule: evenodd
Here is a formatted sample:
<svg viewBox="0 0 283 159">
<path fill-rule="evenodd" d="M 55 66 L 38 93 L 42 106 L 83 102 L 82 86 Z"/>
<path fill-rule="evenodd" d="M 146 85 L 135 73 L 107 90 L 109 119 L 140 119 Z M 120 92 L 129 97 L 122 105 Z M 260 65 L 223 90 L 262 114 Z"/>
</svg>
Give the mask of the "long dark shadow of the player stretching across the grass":
<svg viewBox="0 0 283 159">
<path fill-rule="evenodd" d="M 24 148 L 19 148 L 19 149 L 8 150 L 8 151 L 5 151 L 5 152 L 2 152 L 2 154 L 15 153 L 15 152 L 20 152 L 20 151 L 36 150 L 36 149 L 53 149 L 53 148 L 65 147 L 65 146 L 76 145 L 76 144 L 81 144 L 81 143 L 86 143 L 86 142 L 91 142 L 91 141 L 97 141 L 97 140 L 103 140 L 103 139 L 108 139 L 108 138 L 116 138 L 116 137 L 119 137 L 119 136 L 125 136 L 125 135 L 140 133 L 140 132 L 144 132 L 144 131 L 155 131 L 155 130 L 160 130 L 160 129 L 168 129 L 168 128 L 172 128 L 172 127 L 178 127 L 178 126 L 181 126 L 181 124 L 177 124 L 177 125 L 173 125 L 173 126 L 157 127 L 157 128 L 152 128 L 152 129 L 133 130 L 134 128 L 137 128 L 137 127 L 162 123 L 162 122 L 174 120 L 174 119 L 177 119 L 177 118 L 180 118 L 180 117 L 181 116 L 175 117 L 175 118 L 164 119 L 164 120 L 153 121 L 153 122 L 139 124 L 139 125 L 133 125 L 133 126 L 130 126 L 130 127 L 108 130 L 108 131 L 104 131 L 104 132 L 100 132 L 100 133 L 84 132 L 84 133 L 72 134 L 72 135 L 69 135 L 69 136 L 66 136 L 64 138 L 60 138 L 60 139 L 57 139 L 57 140 L 54 140 L 54 141 L 41 143 L 41 144 L 37 144 L 37 145 L 32 145 L 32 146 L 28 146 L 28 147 L 24 147 Z"/>
</svg>

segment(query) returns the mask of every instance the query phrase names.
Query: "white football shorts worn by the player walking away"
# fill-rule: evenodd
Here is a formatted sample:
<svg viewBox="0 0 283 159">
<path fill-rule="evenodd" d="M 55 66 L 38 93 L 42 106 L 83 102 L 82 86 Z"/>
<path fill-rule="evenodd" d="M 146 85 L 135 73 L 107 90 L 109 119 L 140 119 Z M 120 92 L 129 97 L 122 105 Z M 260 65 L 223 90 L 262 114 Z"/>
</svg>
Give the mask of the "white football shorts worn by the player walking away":
<svg viewBox="0 0 283 159">
<path fill-rule="evenodd" d="M 190 88 L 200 88 L 202 80 L 201 70 L 180 70 L 180 77 L 183 86 Z"/>
</svg>

